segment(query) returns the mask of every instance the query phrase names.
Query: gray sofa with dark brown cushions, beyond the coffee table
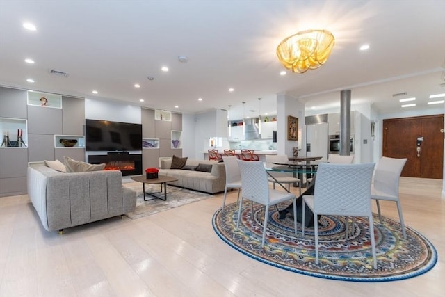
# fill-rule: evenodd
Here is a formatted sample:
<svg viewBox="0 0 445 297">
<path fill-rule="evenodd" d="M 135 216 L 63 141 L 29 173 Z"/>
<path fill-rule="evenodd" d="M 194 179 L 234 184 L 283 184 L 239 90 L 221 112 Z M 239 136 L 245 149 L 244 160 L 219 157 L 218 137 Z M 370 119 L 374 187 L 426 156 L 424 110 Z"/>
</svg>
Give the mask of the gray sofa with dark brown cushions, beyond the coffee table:
<svg viewBox="0 0 445 297">
<path fill-rule="evenodd" d="M 199 166 L 199 164 L 210 164 L 211 172 L 187 170 Z M 171 159 L 161 159 L 159 164 L 159 175 L 168 175 L 178 179 L 177 182 L 169 182 L 174 186 L 190 188 L 195 191 L 206 193 L 218 193 L 225 188 L 225 167 L 224 163 L 216 161 L 204 161 L 187 159 L 186 166 L 182 169 L 170 169 Z"/>
</svg>

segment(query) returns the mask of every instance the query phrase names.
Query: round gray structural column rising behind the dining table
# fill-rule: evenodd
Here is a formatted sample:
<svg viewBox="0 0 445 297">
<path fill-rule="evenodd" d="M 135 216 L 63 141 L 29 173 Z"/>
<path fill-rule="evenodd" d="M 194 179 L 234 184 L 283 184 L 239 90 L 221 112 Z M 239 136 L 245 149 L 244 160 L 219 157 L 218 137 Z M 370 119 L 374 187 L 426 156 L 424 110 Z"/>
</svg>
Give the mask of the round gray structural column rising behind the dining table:
<svg viewBox="0 0 445 297">
<path fill-rule="evenodd" d="M 340 155 L 350 155 L 350 90 L 340 93 Z"/>
</svg>

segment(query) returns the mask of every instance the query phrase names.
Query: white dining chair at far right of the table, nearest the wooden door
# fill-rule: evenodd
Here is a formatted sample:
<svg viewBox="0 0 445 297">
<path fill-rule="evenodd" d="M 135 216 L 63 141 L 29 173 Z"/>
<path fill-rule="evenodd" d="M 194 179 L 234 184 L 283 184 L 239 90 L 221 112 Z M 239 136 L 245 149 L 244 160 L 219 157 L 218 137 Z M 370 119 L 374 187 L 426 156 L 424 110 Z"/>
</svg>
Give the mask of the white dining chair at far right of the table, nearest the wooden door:
<svg viewBox="0 0 445 297">
<path fill-rule="evenodd" d="M 394 159 L 382 156 L 375 167 L 371 198 L 377 204 L 378 218 L 382 223 L 379 200 L 394 201 L 397 204 L 398 218 L 401 220 L 403 239 L 406 239 L 402 205 L 398 195 L 398 184 L 407 159 Z"/>
</svg>

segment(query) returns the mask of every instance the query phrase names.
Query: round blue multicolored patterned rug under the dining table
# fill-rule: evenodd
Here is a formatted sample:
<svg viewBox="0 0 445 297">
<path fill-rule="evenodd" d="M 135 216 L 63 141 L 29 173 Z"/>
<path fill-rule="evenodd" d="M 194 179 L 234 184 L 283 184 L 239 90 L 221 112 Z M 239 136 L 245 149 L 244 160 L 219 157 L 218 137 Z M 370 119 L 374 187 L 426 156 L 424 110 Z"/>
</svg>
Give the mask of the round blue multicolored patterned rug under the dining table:
<svg viewBox="0 0 445 297">
<path fill-rule="evenodd" d="M 437 252 L 419 232 L 405 226 L 407 239 L 403 239 L 400 223 L 389 218 L 374 216 L 377 269 L 373 268 L 368 220 L 356 218 L 349 224 L 349 237 L 345 239 L 345 218 L 321 216 L 318 225 L 319 264 L 315 264 L 314 229 L 298 223 L 298 236 L 293 232 L 293 218 L 280 220 L 275 207 L 269 212 L 266 243 L 261 248 L 264 207 L 254 205 L 252 219 L 250 202 L 245 202 L 241 222 L 236 231 L 238 205 L 229 204 L 225 210 L 213 214 L 213 229 L 223 241 L 253 259 L 288 271 L 318 278 L 355 282 L 387 282 L 403 280 L 426 273 L 437 262 Z M 287 204 L 279 205 L 279 209 Z M 351 227 L 351 225 L 353 225 Z M 351 232 L 353 231 L 353 234 Z"/>
</svg>

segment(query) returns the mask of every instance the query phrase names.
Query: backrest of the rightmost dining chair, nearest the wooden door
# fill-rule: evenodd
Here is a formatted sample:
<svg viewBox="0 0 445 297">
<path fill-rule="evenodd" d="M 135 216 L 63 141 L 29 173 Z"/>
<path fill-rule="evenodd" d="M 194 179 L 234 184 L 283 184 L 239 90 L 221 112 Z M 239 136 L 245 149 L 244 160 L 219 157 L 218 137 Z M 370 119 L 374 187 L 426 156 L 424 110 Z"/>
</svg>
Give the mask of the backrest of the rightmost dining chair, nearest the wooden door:
<svg viewBox="0 0 445 297">
<path fill-rule="evenodd" d="M 387 195 L 398 197 L 398 183 L 407 159 L 382 156 L 375 167 L 374 188 Z"/>
</svg>

